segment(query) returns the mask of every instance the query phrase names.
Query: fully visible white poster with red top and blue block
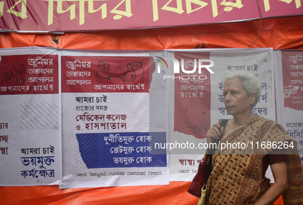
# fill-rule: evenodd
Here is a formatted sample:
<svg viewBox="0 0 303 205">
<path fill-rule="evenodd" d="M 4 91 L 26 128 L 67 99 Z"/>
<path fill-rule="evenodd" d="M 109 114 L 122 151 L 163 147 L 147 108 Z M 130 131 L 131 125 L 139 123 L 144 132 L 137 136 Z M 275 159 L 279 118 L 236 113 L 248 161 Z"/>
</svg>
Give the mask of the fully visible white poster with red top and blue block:
<svg viewBox="0 0 303 205">
<path fill-rule="evenodd" d="M 63 51 L 63 185 L 167 185 L 166 154 L 150 142 L 150 69 L 142 51 Z"/>
</svg>

